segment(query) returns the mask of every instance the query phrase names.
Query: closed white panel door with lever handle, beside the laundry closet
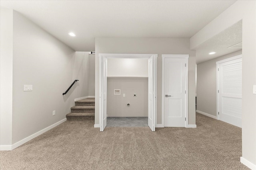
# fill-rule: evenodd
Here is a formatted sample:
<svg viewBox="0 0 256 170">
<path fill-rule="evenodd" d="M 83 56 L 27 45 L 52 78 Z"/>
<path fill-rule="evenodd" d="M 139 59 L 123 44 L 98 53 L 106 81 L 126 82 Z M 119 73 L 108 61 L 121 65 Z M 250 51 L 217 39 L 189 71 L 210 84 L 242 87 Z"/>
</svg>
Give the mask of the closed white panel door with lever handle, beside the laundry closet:
<svg viewBox="0 0 256 170">
<path fill-rule="evenodd" d="M 186 59 L 164 59 L 164 126 L 185 127 Z"/>
</svg>

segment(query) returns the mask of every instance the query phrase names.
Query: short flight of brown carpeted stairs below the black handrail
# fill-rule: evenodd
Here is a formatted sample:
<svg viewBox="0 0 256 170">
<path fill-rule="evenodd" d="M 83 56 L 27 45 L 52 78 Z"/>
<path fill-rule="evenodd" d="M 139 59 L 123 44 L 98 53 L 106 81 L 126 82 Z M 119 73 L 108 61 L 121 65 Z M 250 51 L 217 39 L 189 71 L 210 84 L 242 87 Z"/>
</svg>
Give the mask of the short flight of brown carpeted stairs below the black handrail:
<svg viewBox="0 0 256 170">
<path fill-rule="evenodd" d="M 71 113 L 66 115 L 67 120 L 94 120 L 95 98 L 86 98 L 75 102 Z"/>
</svg>

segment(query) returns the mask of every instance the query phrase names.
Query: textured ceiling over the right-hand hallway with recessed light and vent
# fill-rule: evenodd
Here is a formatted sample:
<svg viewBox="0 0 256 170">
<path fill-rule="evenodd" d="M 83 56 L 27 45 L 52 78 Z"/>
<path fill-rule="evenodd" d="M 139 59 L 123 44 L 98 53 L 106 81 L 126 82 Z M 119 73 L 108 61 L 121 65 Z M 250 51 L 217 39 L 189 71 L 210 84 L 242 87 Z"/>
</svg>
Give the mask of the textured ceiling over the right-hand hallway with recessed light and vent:
<svg viewBox="0 0 256 170">
<path fill-rule="evenodd" d="M 242 20 L 231 27 L 208 39 L 196 49 L 196 63 L 202 63 L 235 51 L 240 48 L 228 48 L 232 45 L 242 42 Z M 210 52 L 216 52 L 209 55 Z"/>
</svg>

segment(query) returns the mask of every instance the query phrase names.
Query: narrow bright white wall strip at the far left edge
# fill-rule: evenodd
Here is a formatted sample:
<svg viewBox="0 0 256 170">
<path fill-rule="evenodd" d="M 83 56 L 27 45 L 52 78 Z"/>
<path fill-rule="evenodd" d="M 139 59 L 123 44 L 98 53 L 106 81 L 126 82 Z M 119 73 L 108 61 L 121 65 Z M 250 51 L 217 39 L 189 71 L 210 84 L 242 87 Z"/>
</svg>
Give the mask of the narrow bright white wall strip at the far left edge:
<svg viewBox="0 0 256 170">
<path fill-rule="evenodd" d="M 0 9 L 0 145 L 12 144 L 12 10 Z"/>
</svg>

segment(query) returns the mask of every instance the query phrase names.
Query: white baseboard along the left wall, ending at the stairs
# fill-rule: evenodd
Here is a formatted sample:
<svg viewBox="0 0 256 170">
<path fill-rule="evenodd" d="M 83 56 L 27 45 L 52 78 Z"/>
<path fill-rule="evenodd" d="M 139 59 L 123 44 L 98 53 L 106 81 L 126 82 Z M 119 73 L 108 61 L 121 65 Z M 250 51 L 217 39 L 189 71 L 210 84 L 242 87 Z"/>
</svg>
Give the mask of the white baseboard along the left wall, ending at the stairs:
<svg viewBox="0 0 256 170">
<path fill-rule="evenodd" d="M 58 121 L 57 123 L 54 123 L 53 125 L 50 125 L 44 129 L 42 129 L 41 131 L 38 131 L 38 132 L 34 133 L 33 135 L 30 135 L 29 137 L 26 137 L 16 143 L 14 143 L 13 145 L 2 145 L 0 149 L 1 150 L 4 150 L 4 149 L 13 150 L 13 149 L 19 147 L 20 145 L 23 145 L 24 143 L 30 141 L 31 139 L 34 139 L 35 137 L 38 137 L 39 135 L 42 135 L 43 133 L 49 131 L 50 129 L 60 125 L 61 123 L 65 122 L 66 120 L 67 120 L 66 118 L 62 119 L 61 121 Z"/>
</svg>

